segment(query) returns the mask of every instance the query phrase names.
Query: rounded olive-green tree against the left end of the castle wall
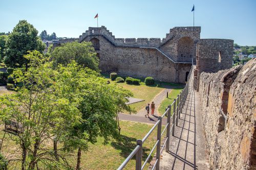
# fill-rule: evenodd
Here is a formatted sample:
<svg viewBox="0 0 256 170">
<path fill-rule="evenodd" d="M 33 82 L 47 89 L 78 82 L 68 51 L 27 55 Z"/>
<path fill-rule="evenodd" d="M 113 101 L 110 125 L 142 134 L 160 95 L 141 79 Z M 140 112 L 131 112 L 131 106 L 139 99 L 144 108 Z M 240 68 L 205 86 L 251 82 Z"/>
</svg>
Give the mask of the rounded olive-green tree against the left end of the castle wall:
<svg viewBox="0 0 256 170">
<path fill-rule="evenodd" d="M 54 51 L 51 53 L 51 58 L 55 68 L 58 64 L 67 65 L 72 60 L 75 60 L 78 65 L 99 72 L 99 59 L 96 56 L 91 42 L 71 42 L 62 44 L 54 48 Z"/>
</svg>

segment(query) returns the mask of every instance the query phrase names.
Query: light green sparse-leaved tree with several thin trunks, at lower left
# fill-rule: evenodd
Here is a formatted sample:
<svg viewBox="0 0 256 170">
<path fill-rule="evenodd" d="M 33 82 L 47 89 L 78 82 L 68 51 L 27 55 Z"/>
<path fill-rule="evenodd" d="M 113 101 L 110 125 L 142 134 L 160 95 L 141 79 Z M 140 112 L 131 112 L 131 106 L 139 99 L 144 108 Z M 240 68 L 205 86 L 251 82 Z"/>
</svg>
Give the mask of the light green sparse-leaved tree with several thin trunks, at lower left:
<svg viewBox="0 0 256 170">
<path fill-rule="evenodd" d="M 15 82 L 23 82 L 24 86 L 16 93 L 0 97 L 2 123 L 14 122 L 17 125 L 14 127 L 16 135 L 10 138 L 22 150 L 22 169 L 35 169 L 36 166 L 50 169 L 50 165 L 57 164 L 69 167 L 65 156 L 59 154 L 61 161 L 56 161 L 54 152 L 47 146 L 60 132 L 78 126 L 80 113 L 77 105 L 56 94 L 57 72 L 39 52 L 30 52 L 25 58 L 30 61 L 28 70 L 22 72 L 18 68 L 11 75 Z M 65 87 L 57 88 L 65 92 Z M 63 149 L 59 150 L 60 153 Z"/>
</svg>

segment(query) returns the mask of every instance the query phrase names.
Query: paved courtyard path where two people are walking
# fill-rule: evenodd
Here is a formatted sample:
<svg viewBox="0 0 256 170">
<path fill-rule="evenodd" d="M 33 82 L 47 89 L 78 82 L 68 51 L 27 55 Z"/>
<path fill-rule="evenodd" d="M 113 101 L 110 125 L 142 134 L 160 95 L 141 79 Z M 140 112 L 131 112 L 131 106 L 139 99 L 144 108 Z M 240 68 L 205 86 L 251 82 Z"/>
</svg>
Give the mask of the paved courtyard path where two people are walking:
<svg viewBox="0 0 256 170">
<path fill-rule="evenodd" d="M 132 122 L 141 122 L 141 123 L 150 123 L 150 124 L 155 124 L 157 122 L 158 119 L 158 107 L 160 106 L 161 102 L 166 98 L 166 92 L 170 92 L 172 89 L 170 88 L 165 88 L 163 89 L 160 93 L 158 93 L 155 98 L 152 100 L 155 103 L 156 109 L 155 109 L 155 115 L 152 116 L 151 115 L 151 110 L 150 110 L 150 117 L 146 118 L 145 114 L 146 114 L 146 110 L 145 107 L 142 108 L 137 114 L 123 114 L 123 113 L 119 113 L 118 117 L 119 120 L 129 120 Z M 152 103 L 152 101 L 150 103 Z M 164 119 L 163 121 L 166 122 L 166 120 Z"/>
</svg>

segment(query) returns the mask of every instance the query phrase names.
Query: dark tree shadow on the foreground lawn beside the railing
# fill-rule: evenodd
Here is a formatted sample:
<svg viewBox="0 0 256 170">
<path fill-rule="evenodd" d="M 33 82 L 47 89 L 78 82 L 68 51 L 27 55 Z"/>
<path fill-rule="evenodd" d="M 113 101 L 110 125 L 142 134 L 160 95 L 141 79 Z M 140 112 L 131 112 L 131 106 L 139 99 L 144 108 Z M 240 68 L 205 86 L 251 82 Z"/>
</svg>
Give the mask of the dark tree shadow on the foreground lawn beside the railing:
<svg viewBox="0 0 256 170">
<path fill-rule="evenodd" d="M 116 150 L 120 150 L 120 156 L 126 158 L 133 152 L 133 150 L 136 147 L 136 141 L 137 139 L 134 137 L 129 137 L 125 135 L 120 135 L 120 139 L 111 142 L 112 147 L 114 147 Z M 153 146 L 152 146 L 153 147 Z M 147 154 L 145 152 L 151 151 L 150 149 L 143 147 L 142 148 L 142 159 L 145 160 L 147 158 Z M 133 156 L 132 159 L 135 159 L 135 156 Z M 151 158 L 152 159 L 152 158 Z M 150 159 L 150 160 L 151 160 Z"/>
</svg>

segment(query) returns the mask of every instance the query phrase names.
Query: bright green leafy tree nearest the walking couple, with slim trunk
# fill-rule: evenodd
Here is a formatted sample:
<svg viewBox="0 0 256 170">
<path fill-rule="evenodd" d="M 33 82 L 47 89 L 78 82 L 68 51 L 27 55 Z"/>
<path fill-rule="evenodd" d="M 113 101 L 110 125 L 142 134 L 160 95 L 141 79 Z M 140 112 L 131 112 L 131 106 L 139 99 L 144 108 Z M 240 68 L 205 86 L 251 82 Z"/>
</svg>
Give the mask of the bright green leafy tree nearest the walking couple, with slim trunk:
<svg viewBox="0 0 256 170">
<path fill-rule="evenodd" d="M 116 84 L 107 84 L 98 72 L 78 66 L 74 61 L 57 69 L 56 89 L 58 94 L 69 101 L 79 101 L 77 109 L 82 114 L 80 124 L 66 132 L 62 141 L 66 149 L 77 152 L 76 169 L 80 169 L 81 151 L 86 150 L 88 142 L 95 143 L 98 136 L 107 142 L 118 138 L 117 113 L 127 110 L 127 97 L 132 96 L 129 90 Z M 65 89 L 61 87 L 65 84 Z"/>
</svg>

